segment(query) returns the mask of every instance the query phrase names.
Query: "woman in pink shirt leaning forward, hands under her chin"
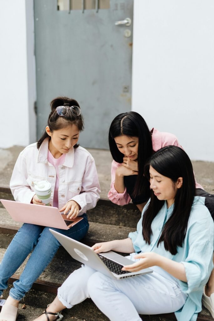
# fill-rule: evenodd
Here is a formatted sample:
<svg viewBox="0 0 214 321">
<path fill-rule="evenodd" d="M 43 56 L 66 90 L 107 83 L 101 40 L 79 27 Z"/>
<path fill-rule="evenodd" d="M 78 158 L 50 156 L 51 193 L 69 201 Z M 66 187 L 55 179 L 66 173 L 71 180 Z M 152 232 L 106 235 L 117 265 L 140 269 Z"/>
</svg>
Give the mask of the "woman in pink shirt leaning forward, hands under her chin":
<svg viewBox="0 0 214 321">
<path fill-rule="evenodd" d="M 146 160 L 162 147 L 182 146 L 173 134 L 162 133 L 155 128 L 150 131 L 143 117 L 134 111 L 115 117 L 108 141 L 113 157 L 108 198 L 117 205 L 125 205 L 132 200 L 142 212 L 150 197 L 150 185 L 143 172 Z M 205 205 L 214 219 L 214 195 L 204 191 L 196 181 L 195 186 L 196 195 L 205 197 Z M 202 302 L 214 317 L 214 272 L 204 290 Z"/>
</svg>

